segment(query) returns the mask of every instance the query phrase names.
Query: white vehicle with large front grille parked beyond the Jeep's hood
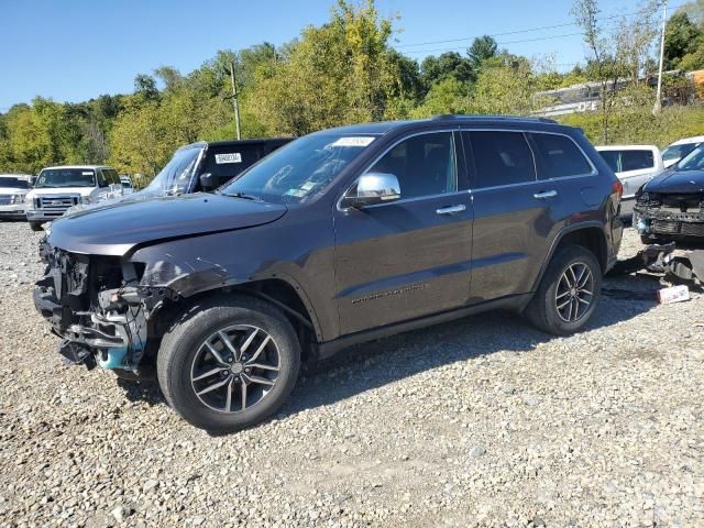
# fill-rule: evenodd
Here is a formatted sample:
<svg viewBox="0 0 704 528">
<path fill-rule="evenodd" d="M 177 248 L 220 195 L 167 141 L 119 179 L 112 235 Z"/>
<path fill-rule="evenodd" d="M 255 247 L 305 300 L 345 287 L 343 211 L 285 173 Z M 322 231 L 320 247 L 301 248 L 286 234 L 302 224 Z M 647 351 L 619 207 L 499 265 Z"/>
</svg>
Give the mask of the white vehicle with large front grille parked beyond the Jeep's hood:
<svg viewBox="0 0 704 528">
<path fill-rule="evenodd" d="M 42 169 L 25 198 L 32 231 L 80 204 L 95 204 L 122 195 L 118 172 L 102 165 L 72 165 Z"/>
</svg>

